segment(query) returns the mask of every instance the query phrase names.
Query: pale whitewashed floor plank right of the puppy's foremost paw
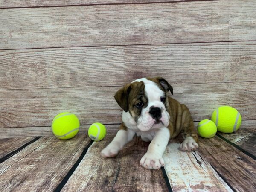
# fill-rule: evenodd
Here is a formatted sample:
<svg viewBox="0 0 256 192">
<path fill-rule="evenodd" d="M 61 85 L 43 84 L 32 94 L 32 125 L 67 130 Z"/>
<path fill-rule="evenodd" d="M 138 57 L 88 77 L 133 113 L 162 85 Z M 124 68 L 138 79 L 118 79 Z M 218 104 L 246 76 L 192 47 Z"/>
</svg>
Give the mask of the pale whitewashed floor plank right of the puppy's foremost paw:
<svg viewBox="0 0 256 192">
<path fill-rule="evenodd" d="M 174 192 L 233 192 L 197 151 L 179 151 L 180 143 L 177 142 L 177 139 L 172 140 L 163 155 L 166 173 Z"/>
</svg>

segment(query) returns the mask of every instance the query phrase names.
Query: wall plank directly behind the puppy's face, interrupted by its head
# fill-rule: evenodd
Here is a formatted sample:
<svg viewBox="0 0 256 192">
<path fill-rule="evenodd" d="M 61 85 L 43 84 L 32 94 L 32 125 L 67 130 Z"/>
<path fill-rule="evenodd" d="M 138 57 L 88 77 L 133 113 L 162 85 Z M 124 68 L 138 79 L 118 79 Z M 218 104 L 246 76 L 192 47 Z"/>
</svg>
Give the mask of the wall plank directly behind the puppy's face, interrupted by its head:
<svg viewBox="0 0 256 192">
<path fill-rule="evenodd" d="M 175 84 L 174 96 L 188 106 L 194 121 L 210 118 L 219 105 L 235 107 L 244 120 L 256 119 L 256 84 Z M 233 87 L 233 88 L 230 88 Z M 58 113 L 76 114 L 81 125 L 121 122 L 113 95 L 120 87 L 0 91 L 0 128 L 50 126 Z"/>
</svg>

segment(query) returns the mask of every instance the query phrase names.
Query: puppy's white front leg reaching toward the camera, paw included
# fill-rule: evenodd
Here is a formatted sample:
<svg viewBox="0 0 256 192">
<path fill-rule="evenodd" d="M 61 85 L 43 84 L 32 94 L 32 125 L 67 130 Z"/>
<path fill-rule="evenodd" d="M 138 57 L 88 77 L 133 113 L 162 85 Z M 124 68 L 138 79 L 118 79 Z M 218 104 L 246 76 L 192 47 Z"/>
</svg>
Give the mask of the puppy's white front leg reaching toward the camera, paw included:
<svg viewBox="0 0 256 192">
<path fill-rule="evenodd" d="M 164 166 L 163 153 L 166 150 L 169 138 L 169 129 L 166 127 L 160 128 L 149 144 L 148 151 L 141 158 L 140 165 L 146 169 L 159 169 Z"/>
</svg>

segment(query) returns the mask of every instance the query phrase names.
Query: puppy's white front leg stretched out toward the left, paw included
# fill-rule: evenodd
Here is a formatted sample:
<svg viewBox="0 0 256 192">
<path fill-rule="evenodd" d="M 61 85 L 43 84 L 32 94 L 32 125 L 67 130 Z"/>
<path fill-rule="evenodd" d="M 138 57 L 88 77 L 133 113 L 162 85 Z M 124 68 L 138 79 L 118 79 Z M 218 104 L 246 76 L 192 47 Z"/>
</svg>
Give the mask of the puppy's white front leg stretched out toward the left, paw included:
<svg viewBox="0 0 256 192">
<path fill-rule="evenodd" d="M 118 152 L 125 146 L 125 144 L 132 140 L 134 134 L 134 131 L 128 128 L 126 130 L 120 129 L 117 131 L 117 134 L 111 143 L 109 143 L 108 146 L 102 150 L 102 157 L 115 157 Z"/>
</svg>

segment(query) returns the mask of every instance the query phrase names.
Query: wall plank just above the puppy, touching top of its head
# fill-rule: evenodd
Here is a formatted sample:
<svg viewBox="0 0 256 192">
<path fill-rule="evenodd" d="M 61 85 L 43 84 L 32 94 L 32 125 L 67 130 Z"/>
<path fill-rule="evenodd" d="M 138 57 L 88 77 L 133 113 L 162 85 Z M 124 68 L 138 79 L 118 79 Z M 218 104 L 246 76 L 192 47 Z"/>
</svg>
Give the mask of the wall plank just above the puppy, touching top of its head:
<svg viewBox="0 0 256 192">
<path fill-rule="evenodd" d="M 253 41 L 8 50 L 0 51 L 0 90 L 122 86 L 145 76 L 170 84 L 255 81 L 255 63 Z"/>
</svg>

